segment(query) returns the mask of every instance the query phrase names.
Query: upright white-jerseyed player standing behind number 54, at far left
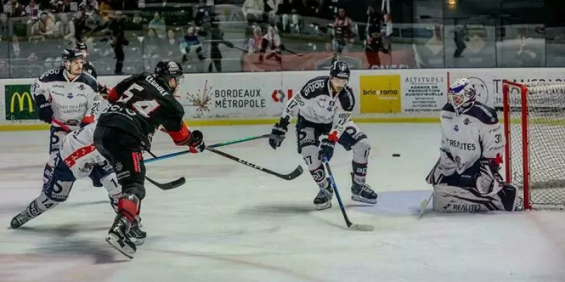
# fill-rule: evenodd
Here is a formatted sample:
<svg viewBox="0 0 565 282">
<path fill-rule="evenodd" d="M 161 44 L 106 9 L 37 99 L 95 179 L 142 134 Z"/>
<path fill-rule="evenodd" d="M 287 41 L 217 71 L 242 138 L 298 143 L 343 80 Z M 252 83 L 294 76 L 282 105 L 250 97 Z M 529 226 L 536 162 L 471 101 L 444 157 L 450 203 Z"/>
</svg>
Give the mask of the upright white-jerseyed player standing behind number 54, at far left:
<svg viewBox="0 0 565 282">
<path fill-rule="evenodd" d="M 83 72 L 83 55 L 72 49 L 62 53 L 63 66 L 42 74 L 31 86 L 31 93 L 41 121 L 51 124 L 49 161 L 45 165 L 44 180 L 59 152 L 62 138 L 69 130 L 76 130 L 94 121 L 100 111 L 98 84 L 92 75 Z M 94 180 L 95 185 L 102 187 Z"/>
</svg>

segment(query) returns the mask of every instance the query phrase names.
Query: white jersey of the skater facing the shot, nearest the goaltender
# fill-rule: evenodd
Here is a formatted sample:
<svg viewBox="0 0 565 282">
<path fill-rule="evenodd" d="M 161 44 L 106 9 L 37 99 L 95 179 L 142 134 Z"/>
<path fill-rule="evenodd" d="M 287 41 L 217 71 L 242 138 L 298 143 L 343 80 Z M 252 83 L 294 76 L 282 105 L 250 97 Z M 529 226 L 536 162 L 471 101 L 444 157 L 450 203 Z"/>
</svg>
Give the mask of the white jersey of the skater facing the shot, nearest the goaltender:
<svg viewBox="0 0 565 282">
<path fill-rule="evenodd" d="M 330 135 L 337 139 L 349 123 L 355 97 L 350 87 L 346 86 L 332 98 L 329 76 L 319 76 L 309 80 L 299 94 L 289 99 L 283 118 L 302 116 L 316 124 L 332 124 Z"/>
</svg>

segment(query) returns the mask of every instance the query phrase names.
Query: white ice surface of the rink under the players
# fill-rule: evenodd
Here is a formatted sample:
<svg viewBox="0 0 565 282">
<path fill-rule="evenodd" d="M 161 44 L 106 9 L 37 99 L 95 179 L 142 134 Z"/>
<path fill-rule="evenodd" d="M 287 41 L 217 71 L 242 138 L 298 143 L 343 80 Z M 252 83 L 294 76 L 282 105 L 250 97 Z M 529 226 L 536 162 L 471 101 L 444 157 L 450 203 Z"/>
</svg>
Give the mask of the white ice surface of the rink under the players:
<svg viewBox="0 0 565 282">
<path fill-rule="evenodd" d="M 146 183 L 148 239 L 133 260 L 105 243 L 114 213 L 104 188 L 89 180 L 78 180 L 67 202 L 9 229 L 41 190 L 49 133 L 2 132 L 0 281 L 565 281 L 563 212 L 427 212 L 419 220 L 439 124 L 359 126 L 373 146 L 367 182 L 379 203 L 350 200 L 349 152 L 336 147 L 331 166 L 351 221 L 374 231 L 348 231 L 335 197 L 332 209 L 316 211 L 307 171 L 281 180 L 204 152 L 148 164 L 155 180 L 187 182 L 168 191 Z M 201 130 L 210 145 L 269 133 L 270 126 Z M 266 140 L 220 149 L 285 173 L 306 168 L 293 128 L 276 151 Z M 155 136 L 155 154 L 179 150 L 164 133 Z"/>
</svg>

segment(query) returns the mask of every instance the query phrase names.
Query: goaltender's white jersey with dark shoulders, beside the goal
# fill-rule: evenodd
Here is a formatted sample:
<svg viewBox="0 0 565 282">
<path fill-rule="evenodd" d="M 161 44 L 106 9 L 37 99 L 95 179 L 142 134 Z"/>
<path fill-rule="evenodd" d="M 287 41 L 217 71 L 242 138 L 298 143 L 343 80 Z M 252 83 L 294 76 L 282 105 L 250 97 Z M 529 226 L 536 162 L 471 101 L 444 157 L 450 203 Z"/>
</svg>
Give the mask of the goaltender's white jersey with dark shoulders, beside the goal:
<svg viewBox="0 0 565 282">
<path fill-rule="evenodd" d="M 459 116 L 451 104 L 441 109 L 441 150 L 451 154 L 457 173 L 482 158 L 501 157 L 505 142 L 496 111 L 489 106 L 475 102 Z"/>
</svg>

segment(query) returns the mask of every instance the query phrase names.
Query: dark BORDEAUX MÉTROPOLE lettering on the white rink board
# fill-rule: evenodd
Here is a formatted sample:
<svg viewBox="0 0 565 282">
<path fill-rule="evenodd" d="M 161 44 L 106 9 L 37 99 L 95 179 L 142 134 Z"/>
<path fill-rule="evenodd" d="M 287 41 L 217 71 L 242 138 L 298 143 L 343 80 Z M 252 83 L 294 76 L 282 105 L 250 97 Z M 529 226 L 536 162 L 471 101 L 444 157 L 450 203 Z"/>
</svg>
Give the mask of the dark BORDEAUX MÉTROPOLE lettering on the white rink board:
<svg viewBox="0 0 565 282">
<path fill-rule="evenodd" d="M 260 89 L 215 90 L 216 108 L 264 108 Z"/>
</svg>

